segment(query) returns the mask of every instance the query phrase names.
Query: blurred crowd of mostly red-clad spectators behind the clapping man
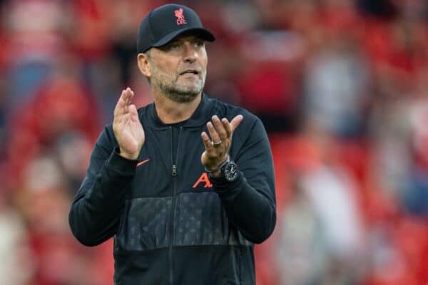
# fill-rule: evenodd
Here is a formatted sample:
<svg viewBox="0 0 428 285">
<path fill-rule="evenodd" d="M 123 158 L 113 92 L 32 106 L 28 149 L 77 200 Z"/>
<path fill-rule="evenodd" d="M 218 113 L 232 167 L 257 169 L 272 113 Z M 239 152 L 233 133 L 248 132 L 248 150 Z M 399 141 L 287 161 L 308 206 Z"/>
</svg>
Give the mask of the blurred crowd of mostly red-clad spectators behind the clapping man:
<svg viewBox="0 0 428 285">
<path fill-rule="evenodd" d="M 207 44 L 205 92 L 257 114 L 277 227 L 259 285 L 428 284 L 428 1 L 176 1 Z M 0 1 L 0 283 L 113 284 L 112 243 L 68 227 L 160 0 Z M 191 266 L 191 264 L 189 264 Z"/>
</svg>

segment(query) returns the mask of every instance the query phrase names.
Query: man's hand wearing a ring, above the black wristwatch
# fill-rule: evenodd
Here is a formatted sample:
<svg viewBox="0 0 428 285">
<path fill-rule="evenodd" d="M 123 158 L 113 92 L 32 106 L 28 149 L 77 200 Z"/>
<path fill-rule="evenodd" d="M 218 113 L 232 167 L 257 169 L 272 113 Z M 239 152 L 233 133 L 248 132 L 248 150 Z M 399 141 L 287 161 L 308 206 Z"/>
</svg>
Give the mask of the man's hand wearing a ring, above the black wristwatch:
<svg viewBox="0 0 428 285">
<path fill-rule="evenodd" d="M 200 135 L 205 146 L 200 162 L 207 170 L 213 171 L 213 176 L 219 174 L 218 167 L 228 159 L 233 132 L 238 128 L 243 118 L 243 115 L 237 115 L 229 123 L 227 118 L 220 120 L 217 115 L 213 115 L 212 121 L 207 123 L 210 135 L 208 136 L 205 132 Z"/>
</svg>

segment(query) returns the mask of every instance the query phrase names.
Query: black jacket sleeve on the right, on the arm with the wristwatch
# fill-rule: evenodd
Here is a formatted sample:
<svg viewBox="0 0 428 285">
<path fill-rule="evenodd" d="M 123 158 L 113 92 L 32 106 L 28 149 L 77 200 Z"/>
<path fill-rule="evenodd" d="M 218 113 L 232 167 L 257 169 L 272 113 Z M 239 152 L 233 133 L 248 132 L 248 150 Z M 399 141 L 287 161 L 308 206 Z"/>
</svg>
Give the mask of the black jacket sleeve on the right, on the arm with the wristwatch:
<svg viewBox="0 0 428 285">
<path fill-rule="evenodd" d="M 240 139 L 235 138 L 238 130 L 233 140 Z M 258 244 L 270 237 L 275 228 L 275 178 L 272 152 L 262 122 L 257 118 L 247 131 L 242 147 L 232 157 L 240 170 L 238 180 L 232 183 L 211 180 L 230 222 L 246 239 Z"/>
</svg>

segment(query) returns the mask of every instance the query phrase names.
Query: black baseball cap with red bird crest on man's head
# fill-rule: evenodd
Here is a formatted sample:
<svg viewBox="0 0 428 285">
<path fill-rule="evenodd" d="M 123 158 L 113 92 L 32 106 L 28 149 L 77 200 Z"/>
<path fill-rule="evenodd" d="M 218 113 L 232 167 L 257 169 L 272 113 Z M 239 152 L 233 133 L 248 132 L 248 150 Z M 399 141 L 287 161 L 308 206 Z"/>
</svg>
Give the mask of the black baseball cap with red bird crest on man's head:
<svg viewBox="0 0 428 285">
<path fill-rule="evenodd" d="M 194 32 L 205 41 L 214 41 L 213 33 L 202 26 L 198 14 L 187 6 L 166 4 L 152 10 L 138 28 L 137 51 L 163 46 L 184 32 Z"/>
</svg>

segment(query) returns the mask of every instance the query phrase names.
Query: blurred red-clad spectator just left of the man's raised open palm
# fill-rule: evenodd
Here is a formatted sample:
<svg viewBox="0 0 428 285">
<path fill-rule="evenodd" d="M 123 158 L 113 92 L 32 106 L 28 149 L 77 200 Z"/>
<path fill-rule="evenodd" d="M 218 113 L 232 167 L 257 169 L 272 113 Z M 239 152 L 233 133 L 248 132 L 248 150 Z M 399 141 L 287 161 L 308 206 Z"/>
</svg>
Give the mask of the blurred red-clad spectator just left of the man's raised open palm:
<svg viewBox="0 0 428 285">
<path fill-rule="evenodd" d="M 54 147 L 63 135 L 74 130 L 85 140 L 96 140 L 99 115 L 91 95 L 71 76 L 56 74 L 26 105 L 19 107 L 9 125 L 10 178 L 20 180 L 24 166 Z M 83 149 L 84 150 L 84 149 Z"/>
</svg>

